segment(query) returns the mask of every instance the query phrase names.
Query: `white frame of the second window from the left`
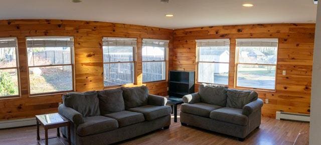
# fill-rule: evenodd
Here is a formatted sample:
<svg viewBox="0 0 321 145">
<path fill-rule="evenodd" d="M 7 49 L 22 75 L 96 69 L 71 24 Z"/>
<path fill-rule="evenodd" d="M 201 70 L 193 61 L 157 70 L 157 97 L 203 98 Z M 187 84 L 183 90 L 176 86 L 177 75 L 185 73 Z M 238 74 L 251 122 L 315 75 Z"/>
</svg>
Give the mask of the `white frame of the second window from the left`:
<svg viewBox="0 0 321 145">
<path fill-rule="evenodd" d="M 56 38 L 62 38 L 62 39 L 70 39 L 66 40 L 66 42 L 59 43 L 56 42 L 54 43 L 48 43 L 46 42 L 46 39 L 56 39 Z M 32 39 L 30 42 L 28 39 Z M 75 70 L 74 70 L 74 37 L 73 36 L 31 36 L 31 37 L 26 37 L 26 45 L 27 45 L 27 52 L 28 48 L 30 47 L 57 47 L 57 45 L 61 46 L 68 46 L 70 47 L 70 63 L 69 64 L 48 64 L 48 65 L 35 65 L 33 64 L 32 66 L 29 65 L 29 60 L 28 60 L 28 54 L 27 54 L 27 64 L 28 64 L 28 79 L 29 79 L 29 95 L 30 96 L 37 96 L 37 95 L 46 95 L 46 94 L 57 94 L 57 93 L 66 93 L 66 92 L 71 92 L 75 90 Z M 29 73 L 29 68 L 33 67 L 48 67 L 48 66 L 71 66 L 72 69 L 72 89 L 71 90 L 63 90 L 63 91 L 52 91 L 52 92 L 43 92 L 43 93 L 31 93 L 31 88 L 30 88 L 30 73 Z"/>
</svg>

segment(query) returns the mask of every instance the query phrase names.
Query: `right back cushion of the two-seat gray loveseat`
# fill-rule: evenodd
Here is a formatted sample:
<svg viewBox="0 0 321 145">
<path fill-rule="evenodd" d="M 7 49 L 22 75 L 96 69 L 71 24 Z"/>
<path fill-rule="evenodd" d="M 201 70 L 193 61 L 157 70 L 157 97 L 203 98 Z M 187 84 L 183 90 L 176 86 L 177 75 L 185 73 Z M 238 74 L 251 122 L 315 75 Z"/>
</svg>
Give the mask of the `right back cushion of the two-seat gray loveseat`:
<svg viewBox="0 0 321 145">
<path fill-rule="evenodd" d="M 251 90 L 229 89 L 226 107 L 243 108 L 244 105 L 257 99 L 257 92 Z"/>
</svg>

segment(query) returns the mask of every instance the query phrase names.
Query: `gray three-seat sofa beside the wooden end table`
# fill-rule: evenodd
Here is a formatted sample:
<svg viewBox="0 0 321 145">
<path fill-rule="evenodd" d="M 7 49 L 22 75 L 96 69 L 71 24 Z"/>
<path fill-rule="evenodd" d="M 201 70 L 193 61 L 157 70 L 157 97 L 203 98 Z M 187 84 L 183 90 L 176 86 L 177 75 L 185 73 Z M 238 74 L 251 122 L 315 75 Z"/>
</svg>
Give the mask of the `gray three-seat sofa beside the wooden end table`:
<svg viewBox="0 0 321 145">
<path fill-rule="evenodd" d="M 169 128 L 171 107 L 146 86 L 70 92 L 58 107 L 71 120 L 72 144 L 110 144 L 159 128 Z M 66 127 L 61 128 L 67 136 Z"/>
</svg>

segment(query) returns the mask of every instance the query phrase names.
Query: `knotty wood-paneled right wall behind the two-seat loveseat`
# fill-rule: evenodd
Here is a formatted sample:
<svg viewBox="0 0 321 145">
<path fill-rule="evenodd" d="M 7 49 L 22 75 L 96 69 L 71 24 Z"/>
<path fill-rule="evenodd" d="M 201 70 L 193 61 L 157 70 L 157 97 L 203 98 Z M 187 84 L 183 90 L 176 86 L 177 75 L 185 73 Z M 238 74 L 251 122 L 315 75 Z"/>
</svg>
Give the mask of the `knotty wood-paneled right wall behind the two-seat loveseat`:
<svg viewBox="0 0 321 145">
<path fill-rule="evenodd" d="M 173 69 L 196 70 L 195 39 L 230 38 L 229 87 L 234 87 L 235 39 L 278 38 L 276 91 L 258 91 L 269 103 L 265 116 L 275 111 L 309 113 L 315 24 L 251 24 L 184 28 L 174 30 Z M 282 75 L 286 70 L 286 75 Z M 198 85 L 195 86 L 196 90 Z"/>
</svg>

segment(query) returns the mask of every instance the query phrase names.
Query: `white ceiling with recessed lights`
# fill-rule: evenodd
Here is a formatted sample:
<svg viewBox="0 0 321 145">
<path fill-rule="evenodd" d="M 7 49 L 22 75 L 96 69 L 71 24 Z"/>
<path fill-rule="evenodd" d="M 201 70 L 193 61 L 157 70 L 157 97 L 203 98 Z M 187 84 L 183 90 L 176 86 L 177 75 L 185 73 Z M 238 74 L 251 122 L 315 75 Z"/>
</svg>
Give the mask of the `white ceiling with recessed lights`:
<svg viewBox="0 0 321 145">
<path fill-rule="evenodd" d="M 312 0 L 0 0 L 0 19 L 75 19 L 185 28 L 255 23 L 314 23 Z M 253 7 L 243 7 L 253 3 Z M 173 13 L 174 17 L 165 17 Z"/>
</svg>

